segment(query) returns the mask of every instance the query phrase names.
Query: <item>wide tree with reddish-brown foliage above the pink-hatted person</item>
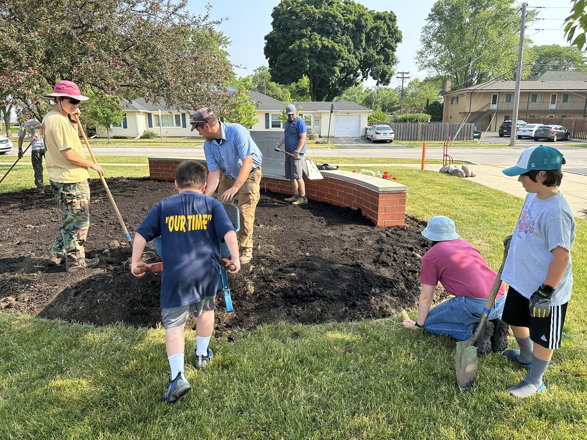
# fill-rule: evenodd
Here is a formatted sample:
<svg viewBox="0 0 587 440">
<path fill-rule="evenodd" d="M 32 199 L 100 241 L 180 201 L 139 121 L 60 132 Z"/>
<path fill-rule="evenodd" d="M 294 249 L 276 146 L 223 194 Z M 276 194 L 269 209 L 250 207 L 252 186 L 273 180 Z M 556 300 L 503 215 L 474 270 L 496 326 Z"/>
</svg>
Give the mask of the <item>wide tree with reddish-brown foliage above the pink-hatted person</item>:
<svg viewBox="0 0 587 440">
<path fill-rule="evenodd" d="M 83 91 L 230 114 L 228 41 L 209 9 L 193 15 L 187 0 L 0 2 L 0 101 L 40 112 L 42 95 L 68 79 Z"/>
</svg>

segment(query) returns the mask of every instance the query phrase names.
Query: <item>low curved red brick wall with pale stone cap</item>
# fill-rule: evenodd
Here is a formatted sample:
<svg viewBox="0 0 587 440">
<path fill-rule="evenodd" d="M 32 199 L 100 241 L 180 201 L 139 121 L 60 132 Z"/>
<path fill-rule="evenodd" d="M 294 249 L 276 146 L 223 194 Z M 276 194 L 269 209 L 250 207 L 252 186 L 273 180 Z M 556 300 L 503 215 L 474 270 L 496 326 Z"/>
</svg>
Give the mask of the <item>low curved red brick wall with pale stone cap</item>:
<svg viewBox="0 0 587 440">
<path fill-rule="evenodd" d="M 149 175 L 153 180 L 175 180 L 176 168 L 183 160 L 203 159 L 149 158 Z M 306 197 L 339 207 L 360 209 L 377 226 L 403 226 L 406 218 L 406 185 L 349 171 L 321 171 L 323 180 L 308 180 Z M 289 180 L 281 176 L 264 176 L 261 188 L 280 194 L 292 194 Z"/>
</svg>

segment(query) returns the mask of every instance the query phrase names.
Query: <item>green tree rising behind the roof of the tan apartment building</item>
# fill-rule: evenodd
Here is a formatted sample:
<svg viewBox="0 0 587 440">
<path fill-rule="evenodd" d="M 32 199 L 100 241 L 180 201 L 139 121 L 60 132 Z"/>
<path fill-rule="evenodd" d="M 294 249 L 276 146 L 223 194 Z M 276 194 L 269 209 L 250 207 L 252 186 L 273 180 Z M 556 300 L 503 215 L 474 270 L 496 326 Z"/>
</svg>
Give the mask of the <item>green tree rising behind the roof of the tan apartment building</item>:
<svg viewBox="0 0 587 440">
<path fill-rule="evenodd" d="M 581 70 L 587 72 L 587 57 L 575 47 L 560 45 L 533 46 L 530 54 L 534 63 L 531 66 L 532 75 L 538 75 L 545 70 Z"/>
</svg>

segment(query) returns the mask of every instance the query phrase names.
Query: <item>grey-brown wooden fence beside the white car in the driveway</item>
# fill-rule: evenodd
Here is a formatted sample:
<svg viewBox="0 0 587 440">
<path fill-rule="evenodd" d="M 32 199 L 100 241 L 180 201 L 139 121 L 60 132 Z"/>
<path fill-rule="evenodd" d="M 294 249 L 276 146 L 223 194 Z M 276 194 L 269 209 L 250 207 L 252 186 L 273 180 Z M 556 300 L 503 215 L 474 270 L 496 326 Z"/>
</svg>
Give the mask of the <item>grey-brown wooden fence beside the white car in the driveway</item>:
<svg viewBox="0 0 587 440">
<path fill-rule="evenodd" d="M 455 137 L 461 124 L 448 122 L 370 122 L 369 126 L 375 124 L 392 127 L 395 132 L 396 141 L 443 141 L 448 136 L 456 141 L 471 141 L 473 140 L 473 130 L 475 126 L 475 124 L 464 124 L 464 127 Z"/>
</svg>

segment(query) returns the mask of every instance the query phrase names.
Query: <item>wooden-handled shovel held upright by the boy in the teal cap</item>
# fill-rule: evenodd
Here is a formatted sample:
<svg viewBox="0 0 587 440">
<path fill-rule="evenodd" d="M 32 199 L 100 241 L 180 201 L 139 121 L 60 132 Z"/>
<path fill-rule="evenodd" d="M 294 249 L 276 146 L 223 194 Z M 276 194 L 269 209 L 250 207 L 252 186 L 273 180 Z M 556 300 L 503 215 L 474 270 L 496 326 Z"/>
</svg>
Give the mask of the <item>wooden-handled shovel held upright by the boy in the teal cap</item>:
<svg viewBox="0 0 587 440">
<path fill-rule="evenodd" d="M 504 242 L 504 258 L 501 260 L 500 270 L 498 270 L 497 275 L 495 276 L 495 281 L 491 287 L 491 292 L 487 298 L 487 302 L 485 302 L 485 307 L 483 309 L 483 313 L 481 313 L 477 330 L 470 339 L 457 342 L 457 383 L 458 388 L 463 391 L 467 391 L 477 378 L 477 347 L 473 346 L 473 344 L 475 341 L 477 341 L 477 339 L 479 339 L 479 336 L 485 329 L 485 324 L 487 324 L 487 317 L 491 312 L 491 307 L 493 307 L 497 292 L 500 290 L 501 273 L 504 270 L 505 258 L 508 255 L 508 249 L 510 249 L 509 239 Z"/>
</svg>

